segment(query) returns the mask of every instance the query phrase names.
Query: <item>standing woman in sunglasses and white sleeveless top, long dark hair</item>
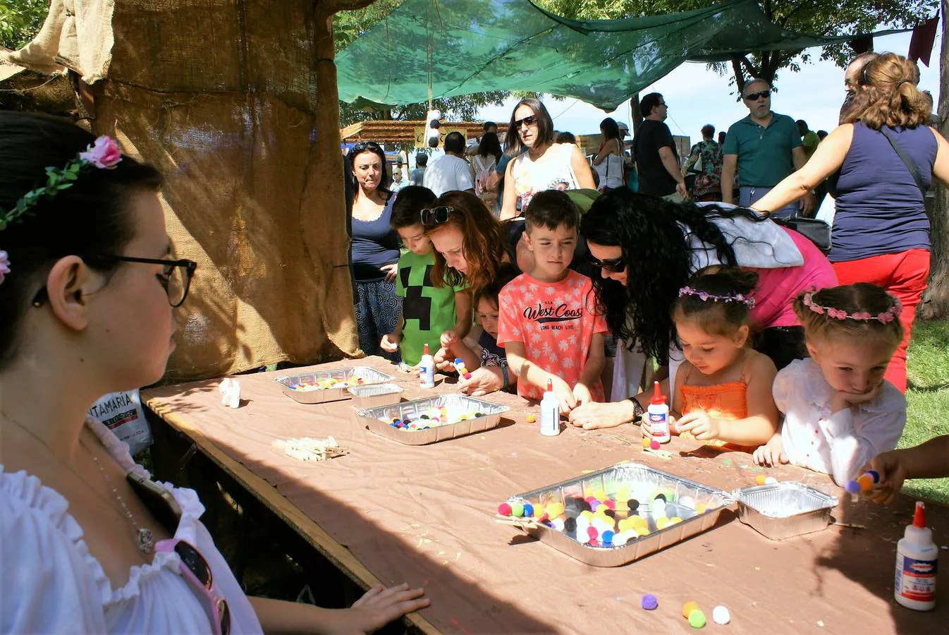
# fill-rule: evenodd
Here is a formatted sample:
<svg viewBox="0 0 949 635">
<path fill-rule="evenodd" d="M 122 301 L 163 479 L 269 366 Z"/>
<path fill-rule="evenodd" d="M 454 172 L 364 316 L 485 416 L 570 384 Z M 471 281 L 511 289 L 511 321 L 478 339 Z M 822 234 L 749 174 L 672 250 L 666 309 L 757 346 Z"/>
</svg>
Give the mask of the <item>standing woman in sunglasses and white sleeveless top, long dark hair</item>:
<svg viewBox="0 0 949 635">
<path fill-rule="evenodd" d="M 520 214 L 538 192 L 596 187 L 580 148 L 554 142 L 553 121 L 537 100 L 521 100 L 514 107 L 506 145 L 513 159 L 505 170 L 501 220 Z"/>
</svg>

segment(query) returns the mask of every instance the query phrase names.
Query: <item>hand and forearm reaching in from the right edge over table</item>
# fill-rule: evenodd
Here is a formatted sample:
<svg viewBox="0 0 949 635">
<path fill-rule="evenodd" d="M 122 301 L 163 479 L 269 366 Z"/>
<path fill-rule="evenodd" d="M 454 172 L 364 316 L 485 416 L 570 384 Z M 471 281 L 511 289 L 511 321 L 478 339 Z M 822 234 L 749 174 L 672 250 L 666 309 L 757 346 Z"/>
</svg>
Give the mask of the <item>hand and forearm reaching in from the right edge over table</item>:
<svg viewBox="0 0 949 635">
<path fill-rule="evenodd" d="M 866 469 L 876 470 L 880 475 L 880 482 L 870 498 L 889 505 L 907 478 L 949 476 L 949 435 L 929 439 L 915 447 L 884 452 L 870 461 Z"/>
</svg>

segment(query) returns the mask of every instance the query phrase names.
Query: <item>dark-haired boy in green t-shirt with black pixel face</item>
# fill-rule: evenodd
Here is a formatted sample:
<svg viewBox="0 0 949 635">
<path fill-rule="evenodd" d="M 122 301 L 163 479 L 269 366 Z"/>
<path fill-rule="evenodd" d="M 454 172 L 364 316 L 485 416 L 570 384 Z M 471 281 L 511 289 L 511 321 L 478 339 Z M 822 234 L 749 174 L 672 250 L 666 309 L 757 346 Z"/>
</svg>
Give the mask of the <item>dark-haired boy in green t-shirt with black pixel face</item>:
<svg viewBox="0 0 949 635">
<path fill-rule="evenodd" d="M 432 285 L 435 251 L 421 224 L 421 211 L 437 203 L 428 188 L 410 185 L 400 190 L 392 205 L 392 228 L 402 239 L 402 255 L 396 274 L 396 295 L 402 299 L 396 330 L 382 336 L 386 352 L 401 348 L 402 362 L 417 366 L 427 344 L 433 355 L 441 347 L 441 335 L 449 330 L 459 338 L 472 324 L 471 295 L 464 286 Z"/>
</svg>

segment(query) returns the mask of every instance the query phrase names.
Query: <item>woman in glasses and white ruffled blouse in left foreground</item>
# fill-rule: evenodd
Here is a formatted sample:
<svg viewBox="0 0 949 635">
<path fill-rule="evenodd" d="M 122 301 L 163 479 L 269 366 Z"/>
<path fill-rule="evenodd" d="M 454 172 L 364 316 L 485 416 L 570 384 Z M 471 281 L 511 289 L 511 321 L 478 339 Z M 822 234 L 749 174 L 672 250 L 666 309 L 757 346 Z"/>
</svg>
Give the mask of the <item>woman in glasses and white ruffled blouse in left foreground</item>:
<svg viewBox="0 0 949 635">
<path fill-rule="evenodd" d="M 427 606 L 248 598 L 191 490 L 158 485 L 102 423 L 157 382 L 196 265 L 171 254 L 155 168 L 64 121 L 0 111 L 0 632 L 365 632 Z"/>
</svg>

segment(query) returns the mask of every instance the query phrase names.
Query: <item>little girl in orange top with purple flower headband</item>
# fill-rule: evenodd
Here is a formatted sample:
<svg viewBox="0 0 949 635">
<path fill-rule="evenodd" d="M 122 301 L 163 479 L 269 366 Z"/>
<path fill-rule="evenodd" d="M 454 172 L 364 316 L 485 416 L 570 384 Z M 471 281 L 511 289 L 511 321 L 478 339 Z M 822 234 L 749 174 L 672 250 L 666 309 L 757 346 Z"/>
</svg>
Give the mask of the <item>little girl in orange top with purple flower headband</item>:
<svg viewBox="0 0 949 635">
<path fill-rule="evenodd" d="M 672 410 L 682 437 L 754 448 L 777 430 L 774 363 L 749 342 L 749 293 L 757 281 L 754 271 L 722 269 L 679 289 L 672 318 L 685 361 Z"/>
</svg>

